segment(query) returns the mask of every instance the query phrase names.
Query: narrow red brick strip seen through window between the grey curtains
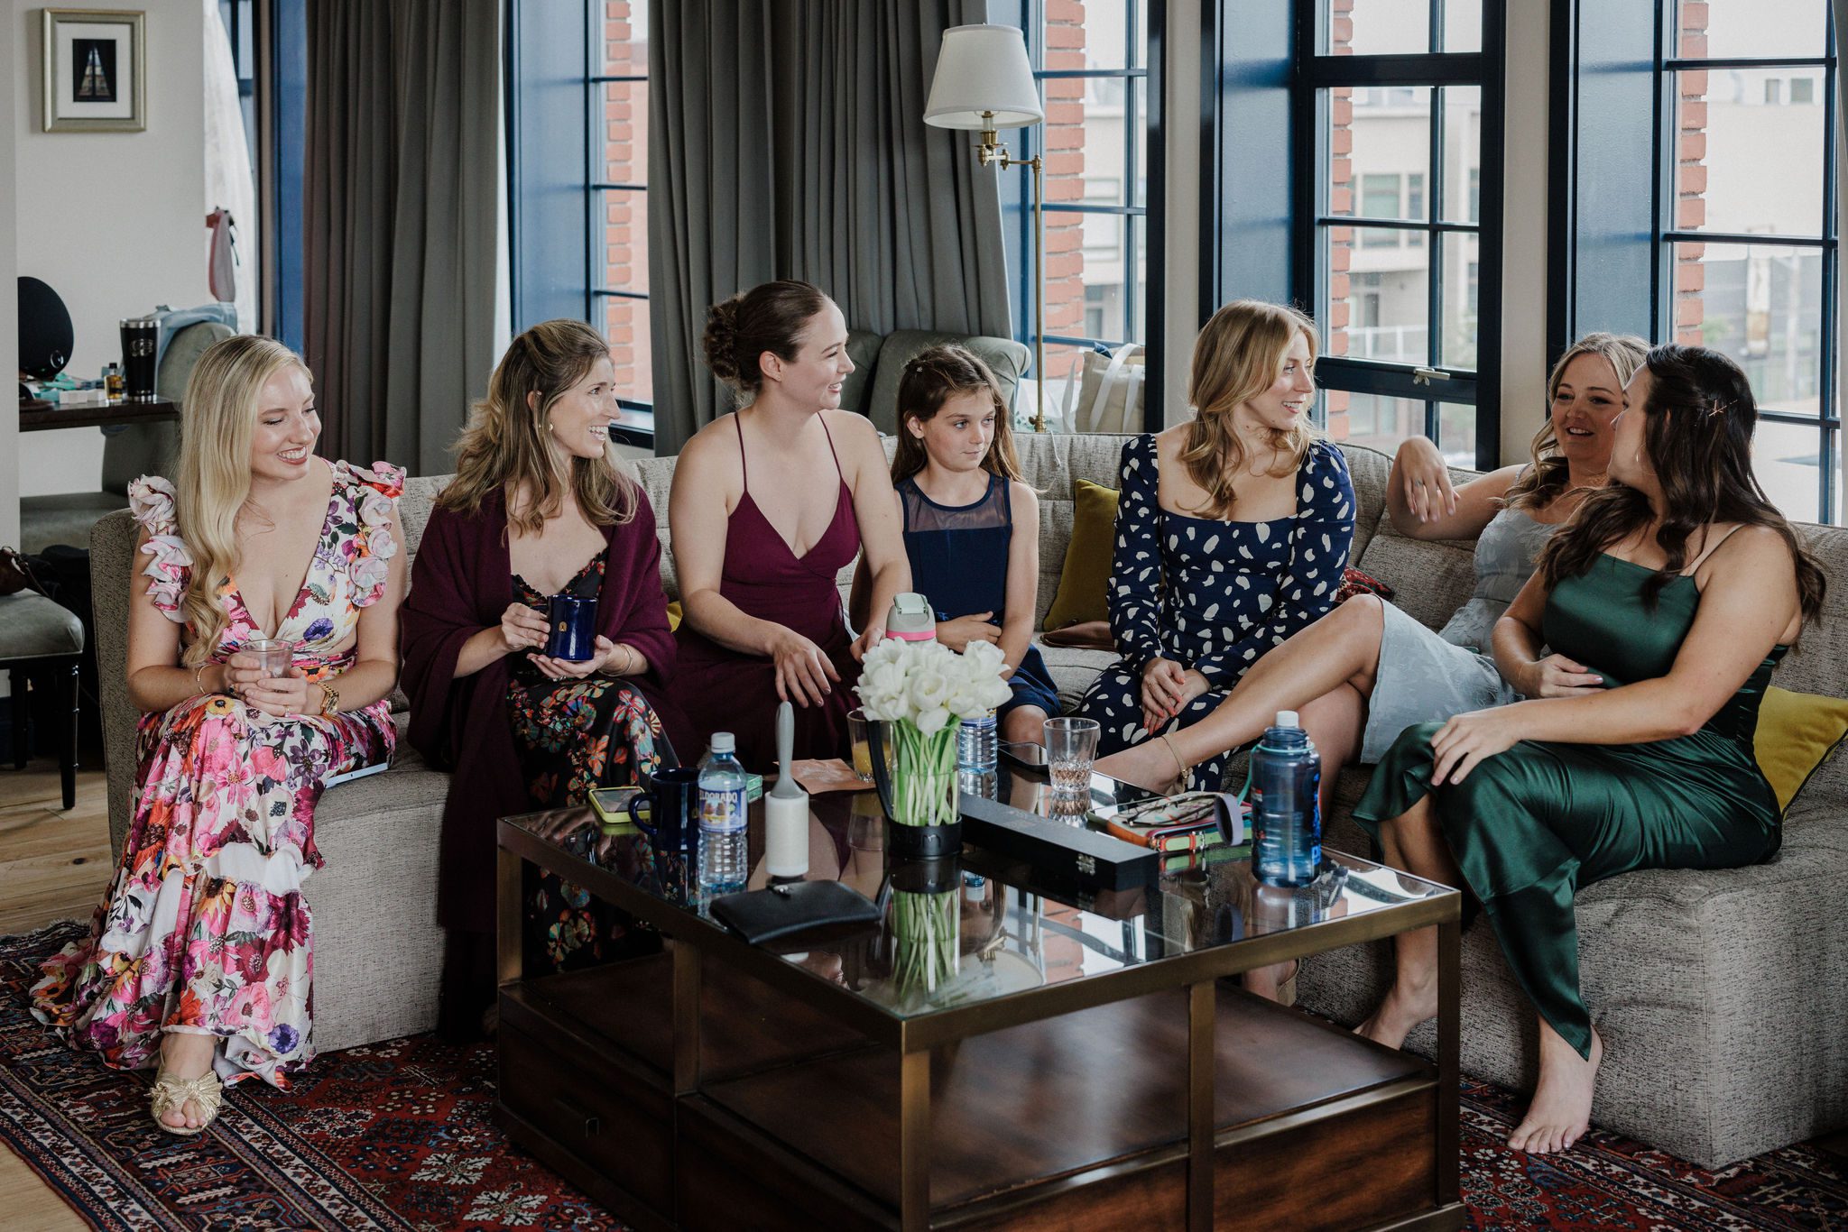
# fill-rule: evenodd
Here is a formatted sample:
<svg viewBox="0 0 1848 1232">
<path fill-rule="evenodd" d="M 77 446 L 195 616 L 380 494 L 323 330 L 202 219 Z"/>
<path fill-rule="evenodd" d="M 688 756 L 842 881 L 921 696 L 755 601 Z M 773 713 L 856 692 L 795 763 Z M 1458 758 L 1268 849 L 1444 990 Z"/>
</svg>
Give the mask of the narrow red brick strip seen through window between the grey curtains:
<svg viewBox="0 0 1848 1232">
<path fill-rule="evenodd" d="M 604 0 L 604 72 L 647 74 L 649 44 L 638 30 L 636 11 L 647 0 Z M 608 183 L 649 181 L 649 85 L 612 81 L 602 87 L 604 177 Z M 615 290 L 649 290 L 649 212 L 645 192 L 604 192 L 602 284 Z M 602 327 L 615 366 L 621 397 L 652 401 L 654 371 L 649 353 L 649 305 L 638 299 L 601 297 Z"/>
</svg>

